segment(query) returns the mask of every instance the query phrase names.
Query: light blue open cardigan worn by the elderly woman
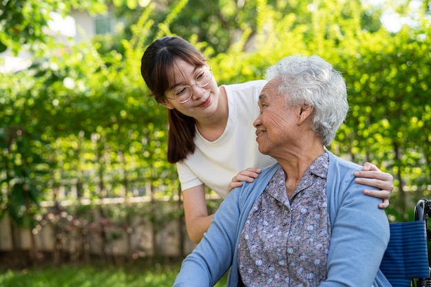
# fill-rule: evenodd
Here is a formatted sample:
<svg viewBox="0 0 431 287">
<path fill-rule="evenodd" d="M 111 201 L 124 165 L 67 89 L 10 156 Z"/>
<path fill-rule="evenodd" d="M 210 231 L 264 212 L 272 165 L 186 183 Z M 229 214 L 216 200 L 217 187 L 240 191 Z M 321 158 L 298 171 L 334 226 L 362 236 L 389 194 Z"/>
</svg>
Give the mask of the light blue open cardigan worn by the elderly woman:
<svg viewBox="0 0 431 287">
<path fill-rule="evenodd" d="M 326 196 L 332 235 L 328 253 L 328 277 L 319 286 L 390 286 L 379 270 L 390 231 L 381 200 L 364 195 L 353 173 L 361 166 L 329 151 Z M 279 164 L 262 170 L 254 183 L 235 188 L 220 204 L 213 222 L 195 250 L 182 262 L 175 287 L 214 286 L 231 268 L 228 287 L 237 287 L 238 242 L 251 206 L 271 180 Z"/>
</svg>

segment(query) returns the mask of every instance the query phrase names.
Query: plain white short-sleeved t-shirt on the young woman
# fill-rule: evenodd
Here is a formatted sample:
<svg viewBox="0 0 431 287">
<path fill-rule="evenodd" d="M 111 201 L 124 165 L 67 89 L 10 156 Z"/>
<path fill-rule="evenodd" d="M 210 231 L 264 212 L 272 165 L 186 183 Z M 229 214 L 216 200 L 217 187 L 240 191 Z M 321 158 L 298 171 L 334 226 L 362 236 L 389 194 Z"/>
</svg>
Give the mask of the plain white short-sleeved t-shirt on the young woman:
<svg viewBox="0 0 431 287">
<path fill-rule="evenodd" d="M 275 162 L 257 149 L 253 120 L 259 114 L 257 101 L 266 81 L 224 85 L 229 105 L 227 127 L 220 138 L 210 142 L 196 129 L 195 152 L 177 162 L 181 189 L 205 184 L 220 197 L 238 172 L 248 168 L 263 168 Z"/>
</svg>

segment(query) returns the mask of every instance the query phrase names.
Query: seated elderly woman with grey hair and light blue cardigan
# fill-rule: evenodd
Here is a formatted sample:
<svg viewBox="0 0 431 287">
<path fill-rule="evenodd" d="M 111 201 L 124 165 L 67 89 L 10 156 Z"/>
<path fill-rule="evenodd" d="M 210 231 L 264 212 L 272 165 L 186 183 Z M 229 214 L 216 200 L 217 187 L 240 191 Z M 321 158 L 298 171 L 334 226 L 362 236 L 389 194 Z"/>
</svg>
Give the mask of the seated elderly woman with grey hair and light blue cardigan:
<svg viewBox="0 0 431 287">
<path fill-rule="evenodd" d="M 389 224 L 364 196 L 361 167 L 324 149 L 348 111 L 341 74 L 318 56 L 288 56 L 266 73 L 253 125 L 277 163 L 233 189 L 174 286 L 390 286 L 379 270 Z"/>
</svg>

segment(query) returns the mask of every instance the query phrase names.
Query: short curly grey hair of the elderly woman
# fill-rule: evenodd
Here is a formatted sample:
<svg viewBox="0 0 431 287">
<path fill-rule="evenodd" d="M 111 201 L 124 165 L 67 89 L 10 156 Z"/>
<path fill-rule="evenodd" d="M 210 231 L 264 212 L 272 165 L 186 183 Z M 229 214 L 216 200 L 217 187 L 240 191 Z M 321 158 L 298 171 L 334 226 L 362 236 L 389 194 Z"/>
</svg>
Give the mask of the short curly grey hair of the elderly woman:
<svg viewBox="0 0 431 287">
<path fill-rule="evenodd" d="M 266 70 L 266 80 L 282 78 L 278 93 L 286 107 L 314 107 L 312 129 L 329 145 L 348 113 L 346 82 L 319 56 L 287 56 Z"/>
</svg>

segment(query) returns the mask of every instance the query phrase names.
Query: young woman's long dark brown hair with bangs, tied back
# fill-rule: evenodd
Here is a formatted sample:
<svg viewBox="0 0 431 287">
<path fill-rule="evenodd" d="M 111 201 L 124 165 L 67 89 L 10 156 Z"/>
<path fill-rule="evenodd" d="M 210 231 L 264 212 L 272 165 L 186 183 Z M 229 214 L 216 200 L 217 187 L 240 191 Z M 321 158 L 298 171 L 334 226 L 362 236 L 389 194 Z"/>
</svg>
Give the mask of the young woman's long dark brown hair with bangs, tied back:
<svg viewBox="0 0 431 287">
<path fill-rule="evenodd" d="M 178 60 L 196 67 L 205 65 L 204 56 L 193 45 L 178 36 L 157 39 L 145 50 L 141 59 L 140 74 L 158 103 L 165 103 L 165 93 L 174 83 L 174 65 Z M 195 151 L 196 120 L 176 109 L 169 109 L 167 160 L 171 163 L 184 160 Z"/>
</svg>

